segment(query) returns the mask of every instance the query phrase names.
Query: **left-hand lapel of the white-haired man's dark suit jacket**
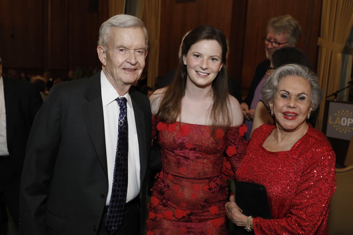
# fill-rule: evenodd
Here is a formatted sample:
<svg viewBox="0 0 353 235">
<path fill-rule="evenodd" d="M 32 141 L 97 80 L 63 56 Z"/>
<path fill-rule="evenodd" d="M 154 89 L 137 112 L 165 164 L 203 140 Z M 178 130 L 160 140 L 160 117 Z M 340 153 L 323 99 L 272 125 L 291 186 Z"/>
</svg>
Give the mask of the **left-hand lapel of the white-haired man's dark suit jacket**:
<svg viewBox="0 0 353 235">
<path fill-rule="evenodd" d="M 96 149 L 98 158 L 108 178 L 107 150 L 104 132 L 104 116 L 101 91 L 101 73 L 94 75 L 88 82 L 84 97 L 88 103 L 82 105 L 88 132 Z"/>
</svg>

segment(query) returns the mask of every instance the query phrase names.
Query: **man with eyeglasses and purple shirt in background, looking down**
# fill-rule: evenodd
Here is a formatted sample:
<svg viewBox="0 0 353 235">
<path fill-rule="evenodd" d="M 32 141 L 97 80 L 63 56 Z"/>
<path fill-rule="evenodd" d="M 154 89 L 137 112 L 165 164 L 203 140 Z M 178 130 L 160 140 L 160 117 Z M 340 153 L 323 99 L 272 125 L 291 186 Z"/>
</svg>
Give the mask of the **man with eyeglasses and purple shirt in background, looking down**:
<svg viewBox="0 0 353 235">
<path fill-rule="evenodd" d="M 244 123 L 248 129 L 248 132 L 244 135 L 246 141 L 250 138 L 255 107 L 257 102 L 261 99 L 261 88 L 268 77 L 266 71 L 270 66 L 270 59 L 273 52 L 283 47 L 294 47 L 298 43 L 300 35 L 301 26 L 299 22 L 290 15 L 274 17 L 267 21 L 267 36 L 263 38 L 263 41 L 265 43 L 265 52 L 268 60 L 259 63 L 256 67 L 249 93 L 240 104 L 245 118 Z"/>
</svg>

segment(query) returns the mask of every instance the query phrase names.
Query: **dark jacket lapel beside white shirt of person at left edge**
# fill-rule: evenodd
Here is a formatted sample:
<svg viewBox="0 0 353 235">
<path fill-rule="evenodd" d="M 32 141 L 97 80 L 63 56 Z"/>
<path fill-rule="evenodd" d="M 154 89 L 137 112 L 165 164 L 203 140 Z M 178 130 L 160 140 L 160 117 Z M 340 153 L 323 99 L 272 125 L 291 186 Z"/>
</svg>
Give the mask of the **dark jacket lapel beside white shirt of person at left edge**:
<svg viewBox="0 0 353 235">
<path fill-rule="evenodd" d="M 7 144 L 10 143 L 12 138 L 12 126 L 16 125 L 18 113 L 16 107 L 18 106 L 18 96 L 16 95 L 16 87 L 12 86 L 11 78 L 4 79 L 4 99 L 5 99 L 5 112 L 6 112 L 6 140 Z"/>
</svg>

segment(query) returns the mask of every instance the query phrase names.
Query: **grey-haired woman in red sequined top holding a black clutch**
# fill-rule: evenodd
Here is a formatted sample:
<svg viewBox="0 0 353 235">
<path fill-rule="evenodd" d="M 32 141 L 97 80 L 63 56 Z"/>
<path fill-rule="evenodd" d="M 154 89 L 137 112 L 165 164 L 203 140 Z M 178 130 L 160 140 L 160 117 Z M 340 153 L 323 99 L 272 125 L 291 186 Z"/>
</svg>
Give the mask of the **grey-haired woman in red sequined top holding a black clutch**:
<svg viewBox="0 0 353 235">
<path fill-rule="evenodd" d="M 318 78 L 306 67 L 284 65 L 268 78 L 261 94 L 276 125 L 254 130 L 236 178 L 266 187 L 272 218 L 241 214 L 234 196 L 226 204 L 227 215 L 255 234 L 328 234 L 335 154 L 323 133 L 305 122 L 322 99 Z"/>
</svg>

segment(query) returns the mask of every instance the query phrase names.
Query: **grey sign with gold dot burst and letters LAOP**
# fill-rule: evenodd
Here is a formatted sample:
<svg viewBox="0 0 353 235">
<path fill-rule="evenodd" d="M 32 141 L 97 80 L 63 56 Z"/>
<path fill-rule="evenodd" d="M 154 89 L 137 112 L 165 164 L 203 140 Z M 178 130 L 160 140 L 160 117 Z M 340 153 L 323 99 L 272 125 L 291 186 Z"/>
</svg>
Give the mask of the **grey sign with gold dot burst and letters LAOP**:
<svg viewBox="0 0 353 235">
<path fill-rule="evenodd" d="M 329 103 L 326 136 L 351 140 L 353 136 L 353 105 Z"/>
</svg>

